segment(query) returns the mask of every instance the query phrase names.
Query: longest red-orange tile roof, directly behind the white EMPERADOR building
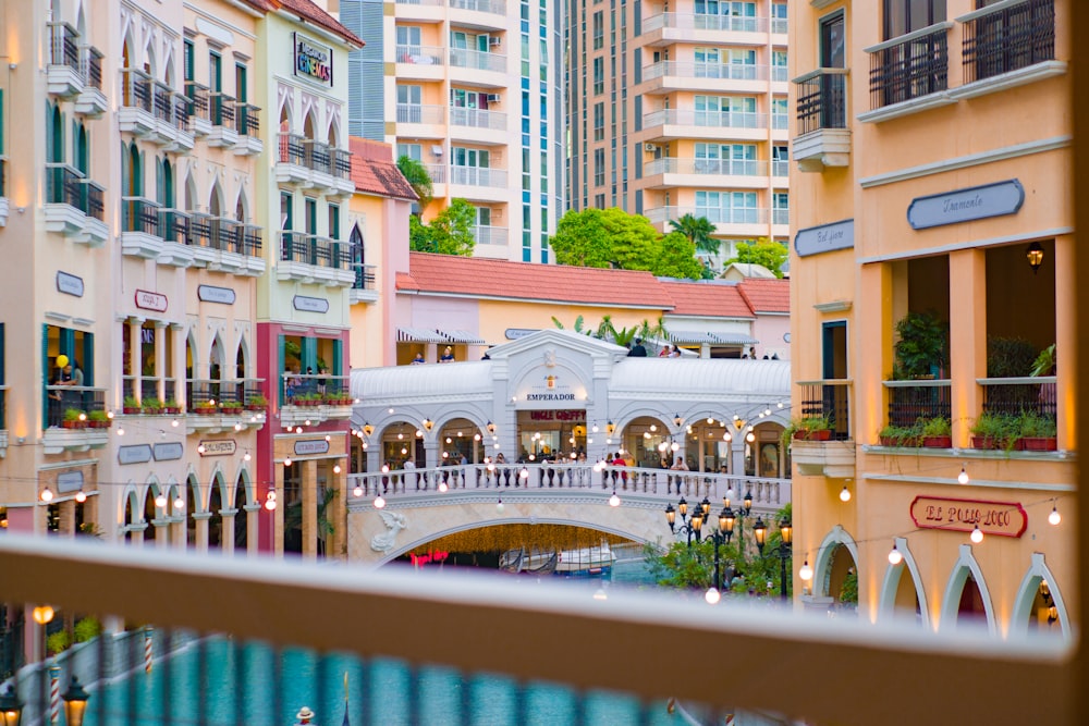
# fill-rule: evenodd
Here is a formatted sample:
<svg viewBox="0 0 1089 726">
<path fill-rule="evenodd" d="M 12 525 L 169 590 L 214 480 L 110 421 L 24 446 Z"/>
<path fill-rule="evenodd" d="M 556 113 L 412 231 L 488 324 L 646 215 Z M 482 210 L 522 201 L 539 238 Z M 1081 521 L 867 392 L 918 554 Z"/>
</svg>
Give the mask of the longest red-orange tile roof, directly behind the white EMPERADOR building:
<svg viewBox="0 0 1089 726">
<path fill-rule="evenodd" d="M 428 293 L 658 310 L 673 308 L 673 298 L 649 272 L 430 253 L 411 253 L 408 269 L 417 288 Z M 397 290 L 411 290 L 404 286 L 400 275 Z"/>
</svg>

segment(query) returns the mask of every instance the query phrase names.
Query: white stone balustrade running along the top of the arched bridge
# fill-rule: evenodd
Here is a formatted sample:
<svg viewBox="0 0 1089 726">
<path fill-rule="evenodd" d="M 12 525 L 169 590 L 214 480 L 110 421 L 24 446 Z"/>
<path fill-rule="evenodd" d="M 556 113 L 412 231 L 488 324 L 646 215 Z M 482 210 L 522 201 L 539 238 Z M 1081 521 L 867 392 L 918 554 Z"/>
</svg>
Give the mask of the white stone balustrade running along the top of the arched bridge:
<svg viewBox="0 0 1089 726">
<path fill-rule="evenodd" d="M 563 496 L 572 490 L 637 493 L 640 500 L 647 499 L 643 495 L 660 497 L 663 508 L 678 496 L 692 504 L 707 497 L 715 514 L 727 496 L 730 505 L 737 507 L 746 494 L 751 494 L 752 508 L 761 512 L 775 512 L 791 501 L 790 479 L 602 464 L 465 464 L 348 475 L 350 501 L 381 494 L 391 504 L 406 497 L 419 506 L 420 497 L 427 495 L 512 489 L 535 494 L 552 491 Z"/>
</svg>

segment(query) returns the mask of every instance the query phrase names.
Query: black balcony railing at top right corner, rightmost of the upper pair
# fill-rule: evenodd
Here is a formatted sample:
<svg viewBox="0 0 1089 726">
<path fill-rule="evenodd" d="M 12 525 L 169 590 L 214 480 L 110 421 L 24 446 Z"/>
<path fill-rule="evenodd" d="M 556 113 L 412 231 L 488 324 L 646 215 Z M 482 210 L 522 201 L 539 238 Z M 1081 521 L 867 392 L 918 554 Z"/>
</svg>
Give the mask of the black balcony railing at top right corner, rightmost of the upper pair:
<svg viewBox="0 0 1089 726">
<path fill-rule="evenodd" d="M 982 8 L 964 23 L 964 82 L 1055 60 L 1055 0 Z"/>
</svg>

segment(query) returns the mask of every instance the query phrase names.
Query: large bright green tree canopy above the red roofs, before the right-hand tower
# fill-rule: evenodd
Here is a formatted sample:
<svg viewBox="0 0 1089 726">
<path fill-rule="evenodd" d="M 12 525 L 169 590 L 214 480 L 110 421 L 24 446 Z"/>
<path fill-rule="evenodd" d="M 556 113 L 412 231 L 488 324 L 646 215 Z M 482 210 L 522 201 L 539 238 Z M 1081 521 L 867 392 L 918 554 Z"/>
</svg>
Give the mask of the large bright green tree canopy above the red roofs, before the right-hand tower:
<svg viewBox="0 0 1089 726">
<path fill-rule="evenodd" d="M 687 237 L 676 232 L 662 236 L 646 217 L 616 207 L 568 211 L 550 244 L 560 264 L 646 270 L 694 280 L 702 272 L 695 244 Z"/>
</svg>

